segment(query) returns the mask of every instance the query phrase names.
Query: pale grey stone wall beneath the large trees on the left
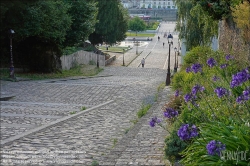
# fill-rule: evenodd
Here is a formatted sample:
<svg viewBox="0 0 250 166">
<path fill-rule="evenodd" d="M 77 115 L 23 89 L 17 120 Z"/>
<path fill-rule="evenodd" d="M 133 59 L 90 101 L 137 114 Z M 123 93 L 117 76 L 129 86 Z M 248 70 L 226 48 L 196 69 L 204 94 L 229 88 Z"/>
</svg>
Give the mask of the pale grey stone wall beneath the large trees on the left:
<svg viewBox="0 0 250 166">
<path fill-rule="evenodd" d="M 90 62 L 97 63 L 97 57 L 99 57 L 99 66 L 105 66 L 105 56 L 100 54 L 95 54 L 92 52 L 78 51 L 71 55 L 63 55 L 60 57 L 62 69 L 69 70 L 75 65 L 79 64 L 89 64 Z"/>
</svg>

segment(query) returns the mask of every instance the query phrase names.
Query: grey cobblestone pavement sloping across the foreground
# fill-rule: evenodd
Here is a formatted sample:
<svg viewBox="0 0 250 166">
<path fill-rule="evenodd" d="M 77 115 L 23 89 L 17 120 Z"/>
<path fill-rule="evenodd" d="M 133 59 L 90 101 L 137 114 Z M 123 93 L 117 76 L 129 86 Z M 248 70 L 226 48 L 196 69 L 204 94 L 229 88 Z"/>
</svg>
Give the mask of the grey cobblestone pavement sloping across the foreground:
<svg viewBox="0 0 250 166">
<path fill-rule="evenodd" d="M 103 157 L 126 138 L 125 133 L 133 126 L 141 104 L 155 103 L 157 87 L 164 82 L 165 73 L 165 70 L 154 68 L 105 67 L 100 73 L 102 77 L 1 83 L 2 92 L 15 96 L 1 102 L 1 164 L 91 165 L 95 160 L 106 162 Z M 100 104 L 103 105 L 98 107 Z M 81 111 L 82 107 L 87 110 Z M 70 116 L 72 118 L 55 123 Z M 53 125 L 49 126 L 50 123 Z M 47 127 L 34 130 L 43 125 Z M 35 132 L 29 133 L 32 130 Z M 144 130 L 146 134 L 157 131 L 162 134 L 160 129 L 152 130 L 147 125 L 138 128 L 138 134 L 144 135 Z M 18 138 L 20 135 L 22 137 Z M 146 136 L 143 141 L 144 137 L 139 138 L 139 135 L 141 142 L 138 143 L 147 147 L 150 139 Z M 158 147 L 163 147 L 163 140 L 154 141 L 161 145 L 156 146 L 157 153 L 152 151 L 152 155 L 162 156 Z M 126 151 L 122 156 L 126 156 Z M 143 162 L 151 163 L 151 160 Z M 158 158 L 154 162 L 158 162 Z M 162 160 L 159 159 L 159 163 L 162 164 Z"/>
</svg>

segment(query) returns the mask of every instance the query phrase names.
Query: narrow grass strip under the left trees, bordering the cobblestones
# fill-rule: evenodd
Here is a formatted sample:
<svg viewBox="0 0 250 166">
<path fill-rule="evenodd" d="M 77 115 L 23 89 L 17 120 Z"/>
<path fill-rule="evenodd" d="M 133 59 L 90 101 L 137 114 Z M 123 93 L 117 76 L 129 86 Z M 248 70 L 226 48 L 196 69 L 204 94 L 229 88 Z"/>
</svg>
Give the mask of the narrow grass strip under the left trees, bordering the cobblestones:
<svg viewBox="0 0 250 166">
<path fill-rule="evenodd" d="M 28 78 L 31 80 L 43 80 L 43 79 L 55 79 L 55 78 L 66 78 L 73 76 L 94 76 L 101 72 L 102 68 L 97 68 L 93 65 L 79 65 L 70 70 L 63 70 L 55 73 L 16 73 L 16 77 Z M 1 79 L 8 79 L 9 72 L 1 71 Z"/>
</svg>

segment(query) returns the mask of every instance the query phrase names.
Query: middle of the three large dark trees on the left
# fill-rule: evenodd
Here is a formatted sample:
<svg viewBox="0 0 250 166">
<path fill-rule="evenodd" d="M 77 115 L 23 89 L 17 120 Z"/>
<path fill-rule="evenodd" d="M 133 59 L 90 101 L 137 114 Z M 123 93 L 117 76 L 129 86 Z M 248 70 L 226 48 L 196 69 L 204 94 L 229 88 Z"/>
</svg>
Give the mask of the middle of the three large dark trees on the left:
<svg viewBox="0 0 250 166">
<path fill-rule="evenodd" d="M 64 46 L 73 46 L 84 42 L 94 32 L 98 9 L 93 0 L 65 0 L 65 2 L 71 6 L 69 14 L 72 17 L 72 24 L 67 31 Z"/>
</svg>

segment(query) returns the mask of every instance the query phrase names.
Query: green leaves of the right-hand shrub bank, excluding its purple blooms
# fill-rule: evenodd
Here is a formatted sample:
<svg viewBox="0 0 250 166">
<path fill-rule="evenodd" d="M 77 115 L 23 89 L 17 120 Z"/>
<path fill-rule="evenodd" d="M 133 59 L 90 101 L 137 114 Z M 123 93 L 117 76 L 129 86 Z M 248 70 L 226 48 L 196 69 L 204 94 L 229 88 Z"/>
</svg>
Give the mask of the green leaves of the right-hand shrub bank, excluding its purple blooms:
<svg viewBox="0 0 250 166">
<path fill-rule="evenodd" d="M 209 58 L 216 60 L 215 66 L 209 67 L 207 65 Z M 176 132 L 181 124 L 195 124 L 199 127 L 199 136 L 186 142 L 187 148 L 181 153 L 183 165 L 236 165 L 237 162 L 239 165 L 247 165 L 249 161 L 223 160 L 219 156 L 208 155 L 206 145 L 211 140 L 217 140 L 226 145 L 225 153 L 249 150 L 250 101 L 248 100 L 244 104 L 240 104 L 236 102 L 236 99 L 250 86 L 250 81 L 246 80 L 243 85 L 235 88 L 230 86 L 232 75 L 245 69 L 249 64 L 238 61 L 235 58 L 226 60 L 224 53 L 212 51 L 207 47 L 192 49 L 186 55 L 184 61 L 184 67 L 200 63 L 202 72 L 196 74 L 193 72 L 186 73 L 185 68 L 182 68 L 180 72 L 174 75 L 173 88 L 181 91 L 179 98 L 183 100 L 187 93 L 192 92 L 195 85 L 203 86 L 205 90 L 198 92 L 192 102 L 182 102 L 173 99 L 175 102 L 171 101 L 165 106 L 180 109 L 180 115 L 177 120 L 168 120 L 168 122 L 174 122 L 173 126 L 176 128 L 176 131 L 171 132 L 169 139 L 165 142 L 168 144 L 165 148 L 166 155 L 170 159 L 180 156 L 179 153 L 182 150 L 175 149 L 175 146 L 171 147 L 172 144 L 175 145 L 173 139 L 179 139 L 176 136 Z M 227 64 L 227 67 L 220 68 L 222 64 Z M 217 76 L 219 79 L 213 81 L 212 78 L 214 76 Z M 218 97 L 215 93 L 215 88 L 217 87 L 226 88 L 229 90 L 230 95 Z M 178 107 L 175 107 L 175 103 L 177 103 Z M 172 141 L 170 138 L 172 138 Z M 172 149 L 176 150 L 174 151 L 176 153 Z"/>
</svg>

